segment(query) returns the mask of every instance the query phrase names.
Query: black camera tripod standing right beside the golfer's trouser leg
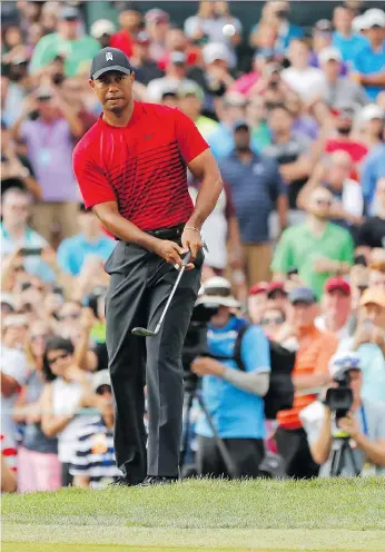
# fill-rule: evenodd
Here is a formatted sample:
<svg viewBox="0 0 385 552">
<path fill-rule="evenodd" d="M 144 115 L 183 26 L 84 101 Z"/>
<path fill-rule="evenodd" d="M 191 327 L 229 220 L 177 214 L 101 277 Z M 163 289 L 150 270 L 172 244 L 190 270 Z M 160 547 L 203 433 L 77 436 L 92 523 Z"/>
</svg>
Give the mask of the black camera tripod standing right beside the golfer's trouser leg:
<svg viewBox="0 0 385 552">
<path fill-rule="evenodd" d="M 204 411 L 207 423 L 210 426 L 210 430 L 214 435 L 214 440 L 216 442 L 216 445 L 219 450 L 219 453 L 221 455 L 221 459 L 224 461 L 224 464 L 226 466 L 227 473 L 230 475 L 231 479 L 237 477 L 237 470 L 236 466 L 233 462 L 233 459 L 226 448 L 226 445 L 223 441 L 223 438 L 219 437 L 218 432 L 214 425 L 213 417 L 210 413 L 208 412 L 204 400 L 201 398 L 201 395 L 197 393 L 199 387 L 199 378 L 196 374 L 189 373 L 188 378 L 185 381 L 185 405 L 184 405 L 184 420 L 185 422 L 185 428 L 184 428 L 184 435 L 181 440 L 181 450 L 180 450 L 180 467 L 185 463 L 187 450 L 188 450 L 188 437 L 189 437 L 189 432 L 190 432 L 190 413 L 191 413 L 191 407 L 194 400 L 197 398 L 200 408 Z"/>
</svg>

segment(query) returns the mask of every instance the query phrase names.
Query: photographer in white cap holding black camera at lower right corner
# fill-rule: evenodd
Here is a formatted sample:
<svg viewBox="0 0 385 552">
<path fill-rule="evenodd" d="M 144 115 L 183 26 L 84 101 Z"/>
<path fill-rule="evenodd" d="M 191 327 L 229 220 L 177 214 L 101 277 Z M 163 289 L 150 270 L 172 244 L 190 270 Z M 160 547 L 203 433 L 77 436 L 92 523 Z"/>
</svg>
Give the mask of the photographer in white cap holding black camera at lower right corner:
<svg viewBox="0 0 385 552">
<path fill-rule="evenodd" d="M 356 476 L 365 471 L 365 462 L 375 465 L 376 473 L 385 473 L 385 405 L 366 400 L 362 394 L 363 374 L 359 359 L 352 354 L 336 355 L 330 362 L 332 377 L 348 374 L 353 405 L 346 416 L 335 420 L 328 406 L 319 403 L 319 422 L 308 430 L 312 456 L 322 464 L 320 474 L 330 475 L 333 438 L 340 432 L 354 440 L 353 457 L 347 452 L 342 459 L 343 476 Z M 318 426 L 318 427 L 317 427 Z M 356 473 L 356 467 L 358 473 Z"/>
</svg>

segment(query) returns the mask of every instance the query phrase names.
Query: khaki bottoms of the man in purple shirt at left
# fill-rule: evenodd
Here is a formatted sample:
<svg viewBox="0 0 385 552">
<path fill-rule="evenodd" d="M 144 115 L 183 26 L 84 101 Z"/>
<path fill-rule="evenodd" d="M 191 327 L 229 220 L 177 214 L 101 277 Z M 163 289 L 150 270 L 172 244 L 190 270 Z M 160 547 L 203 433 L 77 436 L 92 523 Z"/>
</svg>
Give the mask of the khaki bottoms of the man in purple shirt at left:
<svg viewBox="0 0 385 552">
<path fill-rule="evenodd" d="M 38 203 L 32 205 L 31 227 L 51 243 L 53 235 L 68 238 L 79 231 L 79 204 L 75 201 Z"/>
</svg>

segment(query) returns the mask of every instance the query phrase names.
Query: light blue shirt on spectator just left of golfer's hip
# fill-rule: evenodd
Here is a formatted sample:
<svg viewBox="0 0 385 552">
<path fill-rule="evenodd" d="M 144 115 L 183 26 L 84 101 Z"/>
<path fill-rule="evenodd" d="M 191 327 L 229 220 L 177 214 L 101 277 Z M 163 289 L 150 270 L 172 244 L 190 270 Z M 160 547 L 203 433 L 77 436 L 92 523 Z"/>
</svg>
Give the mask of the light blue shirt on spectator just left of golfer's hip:
<svg viewBox="0 0 385 552">
<path fill-rule="evenodd" d="M 58 249 L 59 266 L 72 276 L 77 276 L 88 255 L 107 260 L 116 246 L 115 239 L 100 235 L 98 241 L 88 241 L 83 234 L 77 234 L 61 241 Z"/>
</svg>

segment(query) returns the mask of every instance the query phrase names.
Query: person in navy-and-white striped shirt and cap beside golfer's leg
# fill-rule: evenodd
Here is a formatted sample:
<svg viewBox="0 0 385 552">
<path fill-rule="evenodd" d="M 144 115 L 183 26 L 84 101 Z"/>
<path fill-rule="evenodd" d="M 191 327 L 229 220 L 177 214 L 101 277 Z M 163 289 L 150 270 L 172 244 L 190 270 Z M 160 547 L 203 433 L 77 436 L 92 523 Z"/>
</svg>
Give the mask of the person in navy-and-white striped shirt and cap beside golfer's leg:
<svg viewBox="0 0 385 552">
<path fill-rule="evenodd" d="M 95 374 L 93 391 L 106 398 L 105 408 L 100 417 L 80 430 L 70 467 L 73 485 L 83 489 L 103 489 L 121 476 L 115 460 L 113 406 L 108 369 Z"/>
</svg>

